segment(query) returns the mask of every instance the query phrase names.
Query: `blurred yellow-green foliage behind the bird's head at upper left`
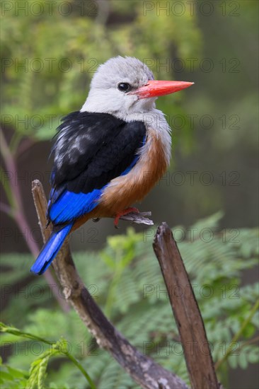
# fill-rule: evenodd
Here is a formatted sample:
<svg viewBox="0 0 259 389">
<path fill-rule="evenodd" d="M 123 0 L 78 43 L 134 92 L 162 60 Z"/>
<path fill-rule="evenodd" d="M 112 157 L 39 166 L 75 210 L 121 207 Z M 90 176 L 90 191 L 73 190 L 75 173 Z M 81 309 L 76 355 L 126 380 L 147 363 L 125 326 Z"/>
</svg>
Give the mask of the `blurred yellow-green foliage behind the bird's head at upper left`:
<svg viewBox="0 0 259 389">
<path fill-rule="evenodd" d="M 30 1 L 27 3 L 30 7 Z M 138 57 L 149 64 L 156 76 L 167 79 L 173 77 L 171 66 L 160 66 L 156 60 L 169 60 L 172 47 L 183 59 L 200 55 L 200 30 L 196 18 L 188 13 L 179 20 L 173 15 L 168 18 L 166 13 L 158 16 L 155 9 L 146 15 L 141 1 L 111 1 L 108 8 L 95 2 L 91 2 L 92 8 L 86 1 L 76 3 L 70 1 L 70 23 L 62 15 L 58 1 L 49 6 L 45 0 L 38 1 L 42 13 L 37 18 L 36 6 L 34 14 L 17 13 L 15 0 L 9 1 L 11 11 L 3 10 L 1 64 L 5 100 L 1 101 L 1 109 L 4 122 L 16 130 L 11 142 L 14 149 L 23 137 L 34 141 L 50 139 L 61 115 L 81 108 L 98 64 L 110 57 Z M 120 23 L 125 13 L 127 21 Z M 108 16 L 115 16 L 118 23 L 105 23 Z M 151 39 L 154 29 L 159 33 Z M 176 95 L 175 102 L 180 98 L 180 94 Z"/>
</svg>

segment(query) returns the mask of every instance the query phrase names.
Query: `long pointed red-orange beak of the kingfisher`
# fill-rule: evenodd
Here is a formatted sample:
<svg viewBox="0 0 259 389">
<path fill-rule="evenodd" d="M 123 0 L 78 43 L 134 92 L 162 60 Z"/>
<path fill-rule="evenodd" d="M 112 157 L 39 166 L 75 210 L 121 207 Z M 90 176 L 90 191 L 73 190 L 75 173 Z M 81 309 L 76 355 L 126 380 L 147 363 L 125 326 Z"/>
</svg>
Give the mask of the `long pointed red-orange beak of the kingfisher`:
<svg viewBox="0 0 259 389">
<path fill-rule="evenodd" d="M 163 95 L 169 95 L 181 91 L 182 89 L 192 86 L 193 82 L 185 81 L 154 81 L 150 80 L 146 85 L 136 89 L 136 91 L 129 92 L 129 95 L 137 95 L 141 98 L 154 98 Z"/>
</svg>

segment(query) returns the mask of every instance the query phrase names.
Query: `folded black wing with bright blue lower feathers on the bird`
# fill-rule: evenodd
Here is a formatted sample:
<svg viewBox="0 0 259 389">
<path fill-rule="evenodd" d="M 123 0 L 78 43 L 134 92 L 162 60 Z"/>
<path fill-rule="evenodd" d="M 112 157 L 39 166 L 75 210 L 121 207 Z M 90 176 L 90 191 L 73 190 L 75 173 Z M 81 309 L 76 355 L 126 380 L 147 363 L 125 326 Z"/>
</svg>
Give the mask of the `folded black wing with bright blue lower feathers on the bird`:
<svg viewBox="0 0 259 389">
<path fill-rule="evenodd" d="M 66 223 L 96 207 L 105 185 L 137 163 L 146 127 L 109 114 L 73 112 L 58 131 L 48 216 Z"/>
</svg>

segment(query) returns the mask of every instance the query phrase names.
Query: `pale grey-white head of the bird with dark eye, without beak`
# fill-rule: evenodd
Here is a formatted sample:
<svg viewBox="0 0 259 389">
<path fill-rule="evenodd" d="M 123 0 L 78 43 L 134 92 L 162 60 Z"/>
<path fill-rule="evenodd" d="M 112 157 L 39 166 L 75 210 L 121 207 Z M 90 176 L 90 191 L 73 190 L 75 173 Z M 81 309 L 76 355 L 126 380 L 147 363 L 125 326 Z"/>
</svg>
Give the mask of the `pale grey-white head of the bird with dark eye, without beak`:
<svg viewBox="0 0 259 389">
<path fill-rule="evenodd" d="M 156 98 L 139 98 L 137 91 L 150 80 L 151 70 L 134 57 L 114 57 L 98 67 L 81 111 L 105 112 L 127 120 L 153 110 Z"/>
</svg>

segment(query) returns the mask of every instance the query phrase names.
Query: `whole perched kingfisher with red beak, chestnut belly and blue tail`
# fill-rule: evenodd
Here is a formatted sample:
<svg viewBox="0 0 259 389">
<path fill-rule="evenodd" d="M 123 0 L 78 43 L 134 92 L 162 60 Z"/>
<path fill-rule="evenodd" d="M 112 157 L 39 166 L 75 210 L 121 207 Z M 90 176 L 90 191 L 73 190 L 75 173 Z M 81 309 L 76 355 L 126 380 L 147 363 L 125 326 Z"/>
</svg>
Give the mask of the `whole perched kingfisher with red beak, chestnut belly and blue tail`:
<svg viewBox="0 0 259 389">
<path fill-rule="evenodd" d="M 156 81 L 144 62 L 117 56 L 100 64 L 81 110 L 63 117 L 51 149 L 47 225 L 53 229 L 31 272 L 42 274 L 65 238 L 89 219 L 132 211 L 166 173 L 171 128 L 155 100 L 191 86 Z"/>
</svg>

